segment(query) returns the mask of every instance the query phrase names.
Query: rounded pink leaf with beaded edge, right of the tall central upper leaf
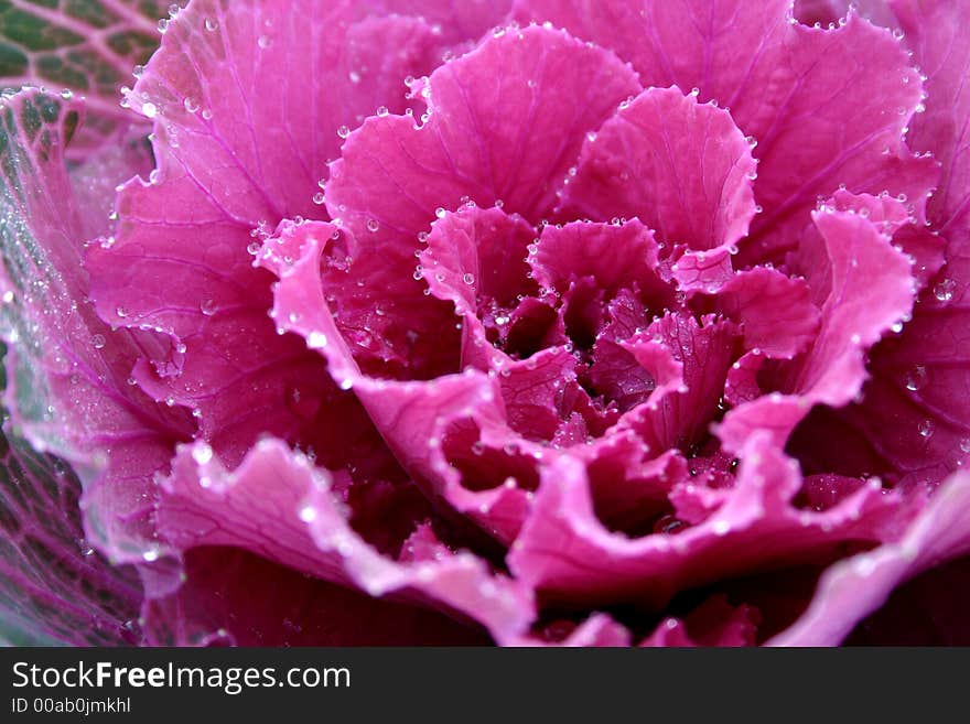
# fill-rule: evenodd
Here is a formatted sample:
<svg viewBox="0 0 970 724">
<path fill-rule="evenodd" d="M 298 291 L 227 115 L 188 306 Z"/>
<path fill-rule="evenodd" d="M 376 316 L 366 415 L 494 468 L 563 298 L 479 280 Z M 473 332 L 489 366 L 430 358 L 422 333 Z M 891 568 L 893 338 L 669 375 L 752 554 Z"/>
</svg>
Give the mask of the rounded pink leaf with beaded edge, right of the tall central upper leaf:
<svg viewBox="0 0 970 724">
<path fill-rule="evenodd" d="M 755 169 L 728 112 L 677 88 L 649 88 L 586 138 L 559 213 L 636 216 L 670 247 L 733 248 L 755 214 Z"/>
</svg>

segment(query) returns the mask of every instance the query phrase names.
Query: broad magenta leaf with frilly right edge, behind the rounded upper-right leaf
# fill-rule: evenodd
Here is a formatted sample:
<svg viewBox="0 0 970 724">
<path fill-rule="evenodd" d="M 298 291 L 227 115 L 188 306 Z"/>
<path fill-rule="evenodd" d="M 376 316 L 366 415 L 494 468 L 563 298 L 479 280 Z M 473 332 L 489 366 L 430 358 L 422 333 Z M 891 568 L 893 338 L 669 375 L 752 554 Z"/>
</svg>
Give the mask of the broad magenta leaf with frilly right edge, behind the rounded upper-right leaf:
<svg viewBox="0 0 970 724">
<path fill-rule="evenodd" d="M 515 13 L 614 50 L 645 86 L 697 88 L 701 101 L 730 108 L 759 162 L 763 214 L 742 258 L 777 261 L 817 197 L 840 184 L 916 203 L 936 180 L 934 161 L 904 142 L 923 88 L 898 41 L 852 13 L 806 28 L 790 9 L 784 0 L 518 0 Z"/>
</svg>

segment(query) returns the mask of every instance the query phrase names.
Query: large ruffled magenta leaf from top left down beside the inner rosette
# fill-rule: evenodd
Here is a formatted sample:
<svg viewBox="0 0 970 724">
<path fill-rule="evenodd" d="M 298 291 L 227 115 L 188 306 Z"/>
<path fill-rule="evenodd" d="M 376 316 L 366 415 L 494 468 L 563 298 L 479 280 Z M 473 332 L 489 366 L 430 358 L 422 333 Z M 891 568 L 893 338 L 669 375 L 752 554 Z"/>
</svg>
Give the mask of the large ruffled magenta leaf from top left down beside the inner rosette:
<svg viewBox="0 0 970 724">
<path fill-rule="evenodd" d="M 313 33 L 303 17 L 315 19 Z M 322 360 L 267 318 L 271 278 L 252 269 L 251 251 L 283 216 L 324 215 L 317 181 L 337 131 L 375 104 L 403 110 L 401 82 L 431 67 L 435 42 L 421 20 L 357 3 L 297 13 L 291 3 L 197 2 L 169 23 L 129 96 L 154 121 L 158 168 L 126 186 L 116 236 L 91 248 L 93 296 L 110 324 L 176 339 L 173 355 L 143 356 L 133 377 L 155 400 L 192 410 L 202 436 L 236 462 L 263 432 L 325 447 L 344 404 Z M 388 44 L 401 50 L 392 60 Z M 313 72 L 278 83 L 306 58 Z"/>
</svg>

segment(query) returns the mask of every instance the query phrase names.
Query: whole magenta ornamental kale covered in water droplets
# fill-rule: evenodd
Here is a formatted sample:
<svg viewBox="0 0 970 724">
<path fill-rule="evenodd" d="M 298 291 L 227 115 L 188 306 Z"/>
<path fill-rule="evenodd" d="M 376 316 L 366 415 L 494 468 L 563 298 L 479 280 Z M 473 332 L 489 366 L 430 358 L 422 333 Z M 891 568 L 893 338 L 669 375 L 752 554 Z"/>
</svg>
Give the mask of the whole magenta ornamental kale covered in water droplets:
<svg viewBox="0 0 970 724">
<path fill-rule="evenodd" d="M 970 2 L 47 4 L 7 639 L 970 641 Z"/>
</svg>

